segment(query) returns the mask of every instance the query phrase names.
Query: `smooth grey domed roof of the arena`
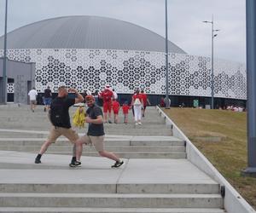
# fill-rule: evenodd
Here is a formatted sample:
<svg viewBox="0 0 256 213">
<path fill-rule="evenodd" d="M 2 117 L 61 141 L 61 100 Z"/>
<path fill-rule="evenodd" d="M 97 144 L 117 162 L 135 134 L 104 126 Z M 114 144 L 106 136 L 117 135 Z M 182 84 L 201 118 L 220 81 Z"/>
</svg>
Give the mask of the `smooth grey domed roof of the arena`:
<svg viewBox="0 0 256 213">
<path fill-rule="evenodd" d="M 170 42 L 169 52 L 186 54 Z M 3 49 L 3 37 L 0 37 Z M 125 49 L 165 52 L 165 38 L 122 20 L 67 16 L 41 20 L 8 33 L 7 49 Z"/>
</svg>

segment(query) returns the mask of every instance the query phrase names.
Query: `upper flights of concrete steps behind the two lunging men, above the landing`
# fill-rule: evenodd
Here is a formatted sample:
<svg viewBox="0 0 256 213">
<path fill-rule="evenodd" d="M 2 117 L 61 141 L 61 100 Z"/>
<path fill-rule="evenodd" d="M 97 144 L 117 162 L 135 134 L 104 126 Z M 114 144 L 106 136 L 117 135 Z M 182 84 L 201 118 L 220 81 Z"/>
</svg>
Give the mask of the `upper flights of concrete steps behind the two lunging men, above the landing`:
<svg viewBox="0 0 256 213">
<path fill-rule="evenodd" d="M 75 109 L 71 109 L 71 115 Z M 38 153 L 48 135 L 49 119 L 46 113 L 43 110 L 32 113 L 23 107 L 13 108 L 10 113 L 11 117 L 9 113 L 1 114 L 2 128 L 12 131 L 0 131 L 0 150 Z M 132 118 L 128 124 L 122 121 L 120 114 L 119 124 L 104 125 L 106 150 L 119 154 L 120 158 L 186 158 L 184 142 L 172 137 L 172 131 L 166 128 L 156 110 L 148 110 L 142 126 L 135 126 Z M 87 125 L 78 131 L 83 134 L 86 130 Z M 47 153 L 70 155 L 72 147 L 66 138 L 61 137 L 49 147 Z M 98 153 L 94 147 L 85 147 L 84 155 L 98 156 Z"/>
</svg>

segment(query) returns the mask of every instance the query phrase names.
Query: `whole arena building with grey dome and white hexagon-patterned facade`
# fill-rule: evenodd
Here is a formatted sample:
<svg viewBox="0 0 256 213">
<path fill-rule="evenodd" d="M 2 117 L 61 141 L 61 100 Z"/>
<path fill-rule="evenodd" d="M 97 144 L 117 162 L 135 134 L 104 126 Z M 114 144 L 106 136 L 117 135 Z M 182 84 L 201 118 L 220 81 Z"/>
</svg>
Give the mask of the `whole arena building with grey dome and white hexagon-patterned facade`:
<svg viewBox="0 0 256 213">
<path fill-rule="evenodd" d="M 49 85 L 101 90 L 108 83 L 124 101 L 141 88 L 157 103 L 166 93 L 165 38 L 141 26 L 96 16 L 42 20 L 8 33 L 9 60 L 34 62 L 39 93 Z M 3 37 L 0 37 L 3 56 Z M 211 59 L 189 55 L 169 42 L 169 94 L 172 106 L 211 102 Z M 9 93 L 15 93 L 9 85 Z M 215 107 L 245 105 L 246 66 L 214 60 Z"/>
</svg>

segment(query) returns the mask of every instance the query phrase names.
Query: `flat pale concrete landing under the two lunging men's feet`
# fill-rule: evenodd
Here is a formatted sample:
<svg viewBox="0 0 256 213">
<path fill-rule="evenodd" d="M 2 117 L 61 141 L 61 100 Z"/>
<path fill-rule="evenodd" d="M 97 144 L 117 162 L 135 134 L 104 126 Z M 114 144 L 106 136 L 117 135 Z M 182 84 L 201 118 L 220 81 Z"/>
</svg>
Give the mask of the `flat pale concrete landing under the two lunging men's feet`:
<svg viewBox="0 0 256 213">
<path fill-rule="evenodd" d="M 1 151 L 0 182 L 216 183 L 187 159 L 125 159 L 124 166 L 112 169 L 108 158 L 83 157 L 83 167 L 73 169 L 68 167 L 70 156 L 45 154 L 43 164 L 34 164 L 34 158 L 33 153 Z M 16 167 L 6 169 L 11 164 Z"/>
</svg>

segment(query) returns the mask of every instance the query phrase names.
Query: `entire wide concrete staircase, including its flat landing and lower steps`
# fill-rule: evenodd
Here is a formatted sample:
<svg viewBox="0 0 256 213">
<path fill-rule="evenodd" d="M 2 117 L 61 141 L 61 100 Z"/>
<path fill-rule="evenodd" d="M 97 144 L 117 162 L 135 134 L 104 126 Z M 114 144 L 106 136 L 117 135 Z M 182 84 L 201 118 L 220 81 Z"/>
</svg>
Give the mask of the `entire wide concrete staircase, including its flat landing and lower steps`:
<svg viewBox="0 0 256 213">
<path fill-rule="evenodd" d="M 73 146 L 62 137 L 34 164 L 49 130 L 43 107 L 0 109 L 0 212 L 225 212 L 218 183 L 189 163 L 184 141 L 154 107 L 141 126 L 131 116 L 123 124 L 122 115 L 104 125 L 106 150 L 125 158 L 115 170 L 90 146 L 82 168 L 68 168 Z"/>
</svg>

